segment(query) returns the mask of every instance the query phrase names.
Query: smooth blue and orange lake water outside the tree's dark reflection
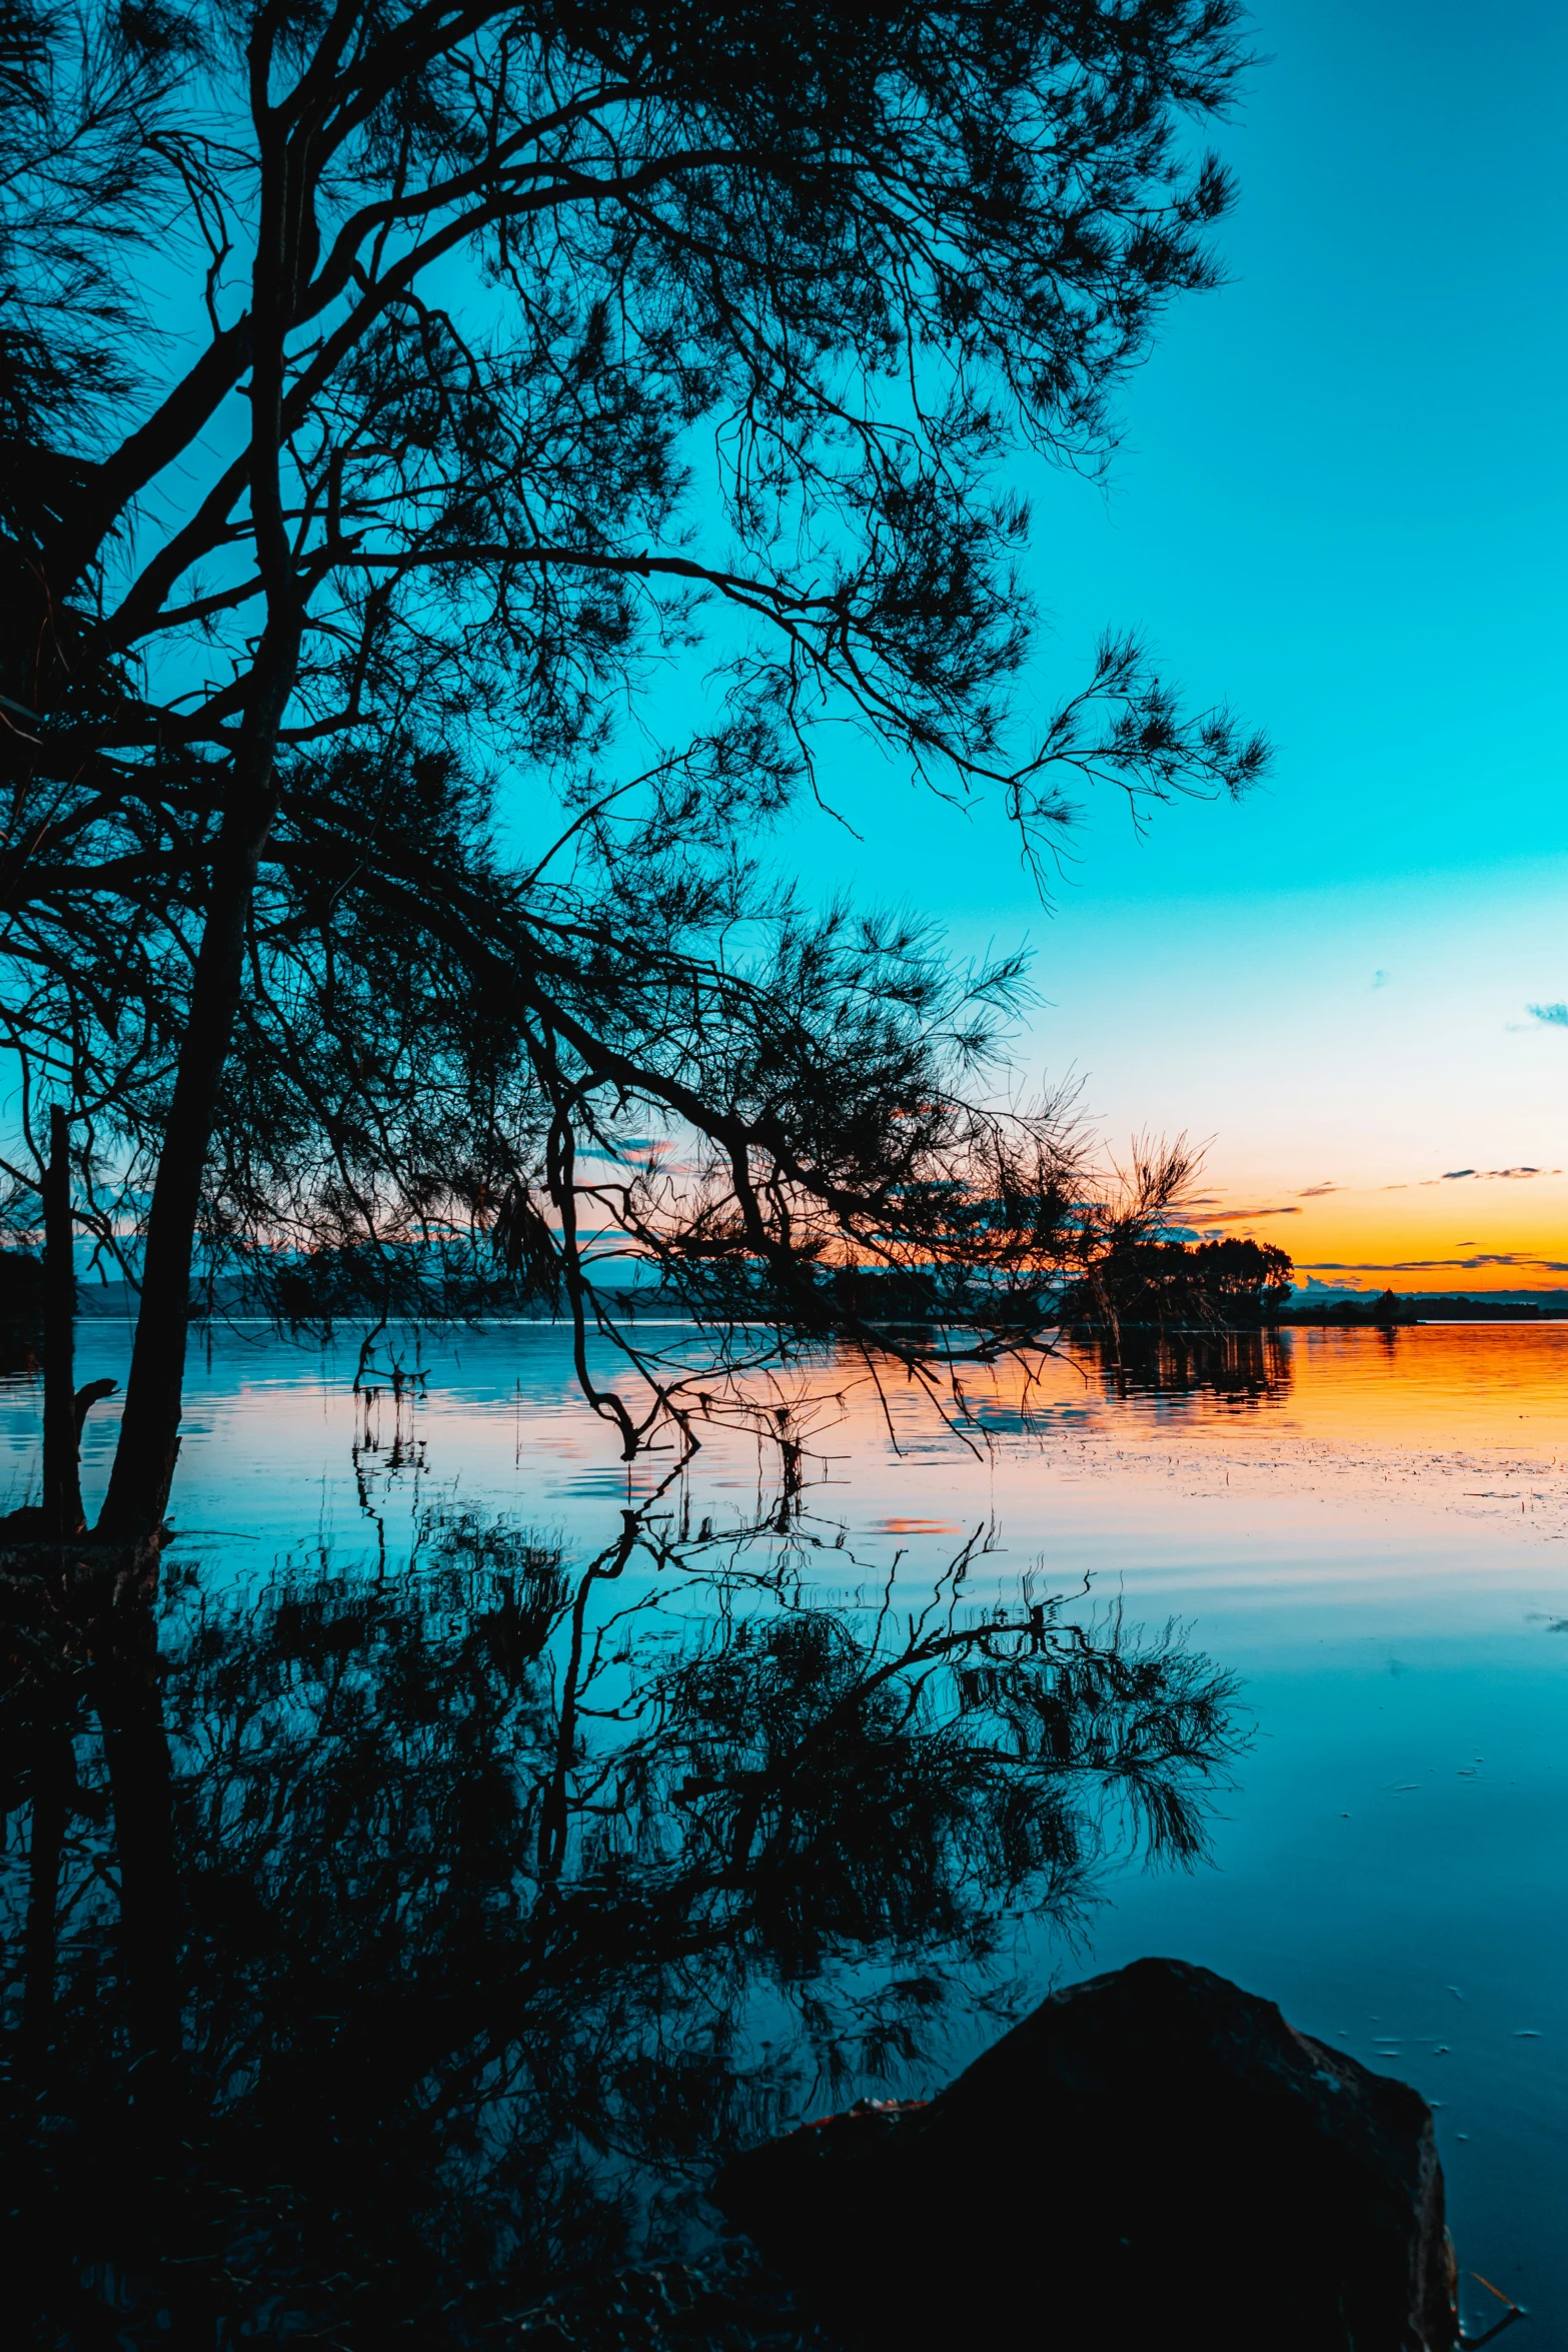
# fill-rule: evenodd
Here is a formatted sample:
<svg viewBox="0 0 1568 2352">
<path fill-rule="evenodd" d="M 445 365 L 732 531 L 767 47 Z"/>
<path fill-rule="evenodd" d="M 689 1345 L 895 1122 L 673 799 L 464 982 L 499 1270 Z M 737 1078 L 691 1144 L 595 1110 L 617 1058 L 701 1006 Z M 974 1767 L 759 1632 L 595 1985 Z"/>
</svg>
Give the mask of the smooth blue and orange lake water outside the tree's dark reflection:
<svg viewBox="0 0 1568 2352">
<path fill-rule="evenodd" d="M 122 1327 L 82 1324 L 82 1376 L 127 1355 Z M 256 1329 L 193 1348 L 176 1524 L 209 1581 L 310 1552 L 383 1571 L 442 1498 L 592 1548 L 670 1468 L 614 1461 L 548 1327 L 409 1338 L 425 1381 L 404 1399 L 355 1399 L 355 1355 Z M 799 1395 L 830 1385 L 804 1371 Z M 823 1597 L 896 1552 L 917 1585 L 954 1531 L 992 1526 L 978 1597 L 1032 1562 L 1056 1590 L 1088 1576 L 1241 1677 L 1255 1738 L 1213 1863 L 1128 1872 L 1077 1950 L 1020 1926 L 1020 1959 L 1070 1978 L 1180 1955 L 1406 2077 L 1439 2110 L 1462 2270 L 1547 2324 L 1568 2310 L 1568 1329 L 1288 1334 L 1262 1376 L 1175 1392 L 1079 1355 L 1027 1411 L 980 1399 L 978 1451 L 907 1397 L 900 1451 L 865 1397 L 818 1404 Z M 38 1395 L 12 1381 L 12 1505 L 35 1432 Z M 89 1423 L 94 1489 L 110 1446 L 113 1406 Z M 670 1508 L 741 1522 L 769 1482 L 750 1439 L 712 1430 Z M 1469 2291 L 1472 2319 L 1486 2300 Z"/>
</svg>

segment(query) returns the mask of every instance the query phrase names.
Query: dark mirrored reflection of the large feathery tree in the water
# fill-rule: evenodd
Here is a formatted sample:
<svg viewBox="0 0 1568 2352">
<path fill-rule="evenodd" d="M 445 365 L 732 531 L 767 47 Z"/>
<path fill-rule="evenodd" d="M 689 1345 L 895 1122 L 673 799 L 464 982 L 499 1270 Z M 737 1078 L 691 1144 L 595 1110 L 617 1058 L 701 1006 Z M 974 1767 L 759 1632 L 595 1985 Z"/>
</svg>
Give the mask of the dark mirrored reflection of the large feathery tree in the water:
<svg viewBox="0 0 1568 2352">
<path fill-rule="evenodd" d="M 1192 1860 L 1234 1752 L 1208 1661 L 971 1602 L 983 1550 L 858 1592 L 799 1522 L 646 1505 L 574 1564 L 447 1510 L 374 1583 L 12 1581 L 12 2310 L 494 2343 L 726 2150 L 940 2072 L 1030 1992 L 1016 1915 Z"/>
</svg>

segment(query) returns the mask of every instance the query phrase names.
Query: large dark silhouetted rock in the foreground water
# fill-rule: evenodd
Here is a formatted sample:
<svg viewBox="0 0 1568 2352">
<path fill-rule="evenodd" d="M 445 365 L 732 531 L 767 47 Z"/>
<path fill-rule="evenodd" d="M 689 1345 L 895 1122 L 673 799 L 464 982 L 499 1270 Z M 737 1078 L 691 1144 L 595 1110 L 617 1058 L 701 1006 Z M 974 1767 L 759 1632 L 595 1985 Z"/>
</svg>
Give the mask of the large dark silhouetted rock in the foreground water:
<svg viewBox="0 0 1568 2352">
<path fill-rule="evenodd" d="M 809 2124 L 712 2194 L 877 2352 L 1458 2340 L 1427 2103 L 1178 1959 L 1067 1985 L 929 2105 Z"/>
</svg>

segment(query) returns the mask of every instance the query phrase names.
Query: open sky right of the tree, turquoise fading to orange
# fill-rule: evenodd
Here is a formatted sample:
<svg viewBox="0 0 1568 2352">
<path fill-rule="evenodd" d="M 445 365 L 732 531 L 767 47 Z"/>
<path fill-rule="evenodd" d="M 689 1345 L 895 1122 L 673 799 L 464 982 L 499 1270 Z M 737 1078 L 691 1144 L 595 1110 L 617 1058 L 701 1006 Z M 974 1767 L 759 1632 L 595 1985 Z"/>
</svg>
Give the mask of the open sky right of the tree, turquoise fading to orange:
<svg viewBox="0 0 1568 2352">
<path fill-rule="evenodd" d="M 1208 1143 L 1197 1230 L 1331 1284 L 1568 1287 L 1568 12 L 1253 28 L 1229 282 L 1166 318 L 1107 485 L 1023 487 L 1032 691 L 1133 623 L 1272 734 L 1267 788 L 1145 840 L 1093 807 L 1051 913 L 997 811 L 893 779 L 809 854 L 964 948 L 1027 936 L 1023 1073 L 1074 1070 L 1110 1145 Z"/>
</svg>

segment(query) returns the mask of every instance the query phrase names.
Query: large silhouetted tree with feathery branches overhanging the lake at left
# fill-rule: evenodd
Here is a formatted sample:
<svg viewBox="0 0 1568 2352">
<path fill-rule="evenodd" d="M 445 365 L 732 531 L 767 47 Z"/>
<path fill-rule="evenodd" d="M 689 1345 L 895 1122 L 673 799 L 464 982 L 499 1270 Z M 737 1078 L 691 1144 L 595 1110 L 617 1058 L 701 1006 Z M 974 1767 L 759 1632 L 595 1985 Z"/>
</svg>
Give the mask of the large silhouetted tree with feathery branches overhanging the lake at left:
<svg viewBox="0 0 1568 2352">
<path fill-rule="evenodd" d="M 101 1534 L 158 1529 L 226 1261 L 428 1303 L 494 1244 L 581 1331 L 607 1249 L 780 1329 L 882 1263 L 1027 1324 L 1084 1185 L 1060 1105 L 973 1103 L 1018 964 L 752 844 L 823 722 L 1037 866 L 1074 779 L 1258 771 L 1126 637 L 1025 734 L 1001 463 L 1093 463 L 1213 282 L 1237 16 L 5 0 L 0 1025 L 19 1183 L 61 1103 L 141 1279 Z M 581 1369 L 628 1449 L 668 1406 Z"/>
</svg>

